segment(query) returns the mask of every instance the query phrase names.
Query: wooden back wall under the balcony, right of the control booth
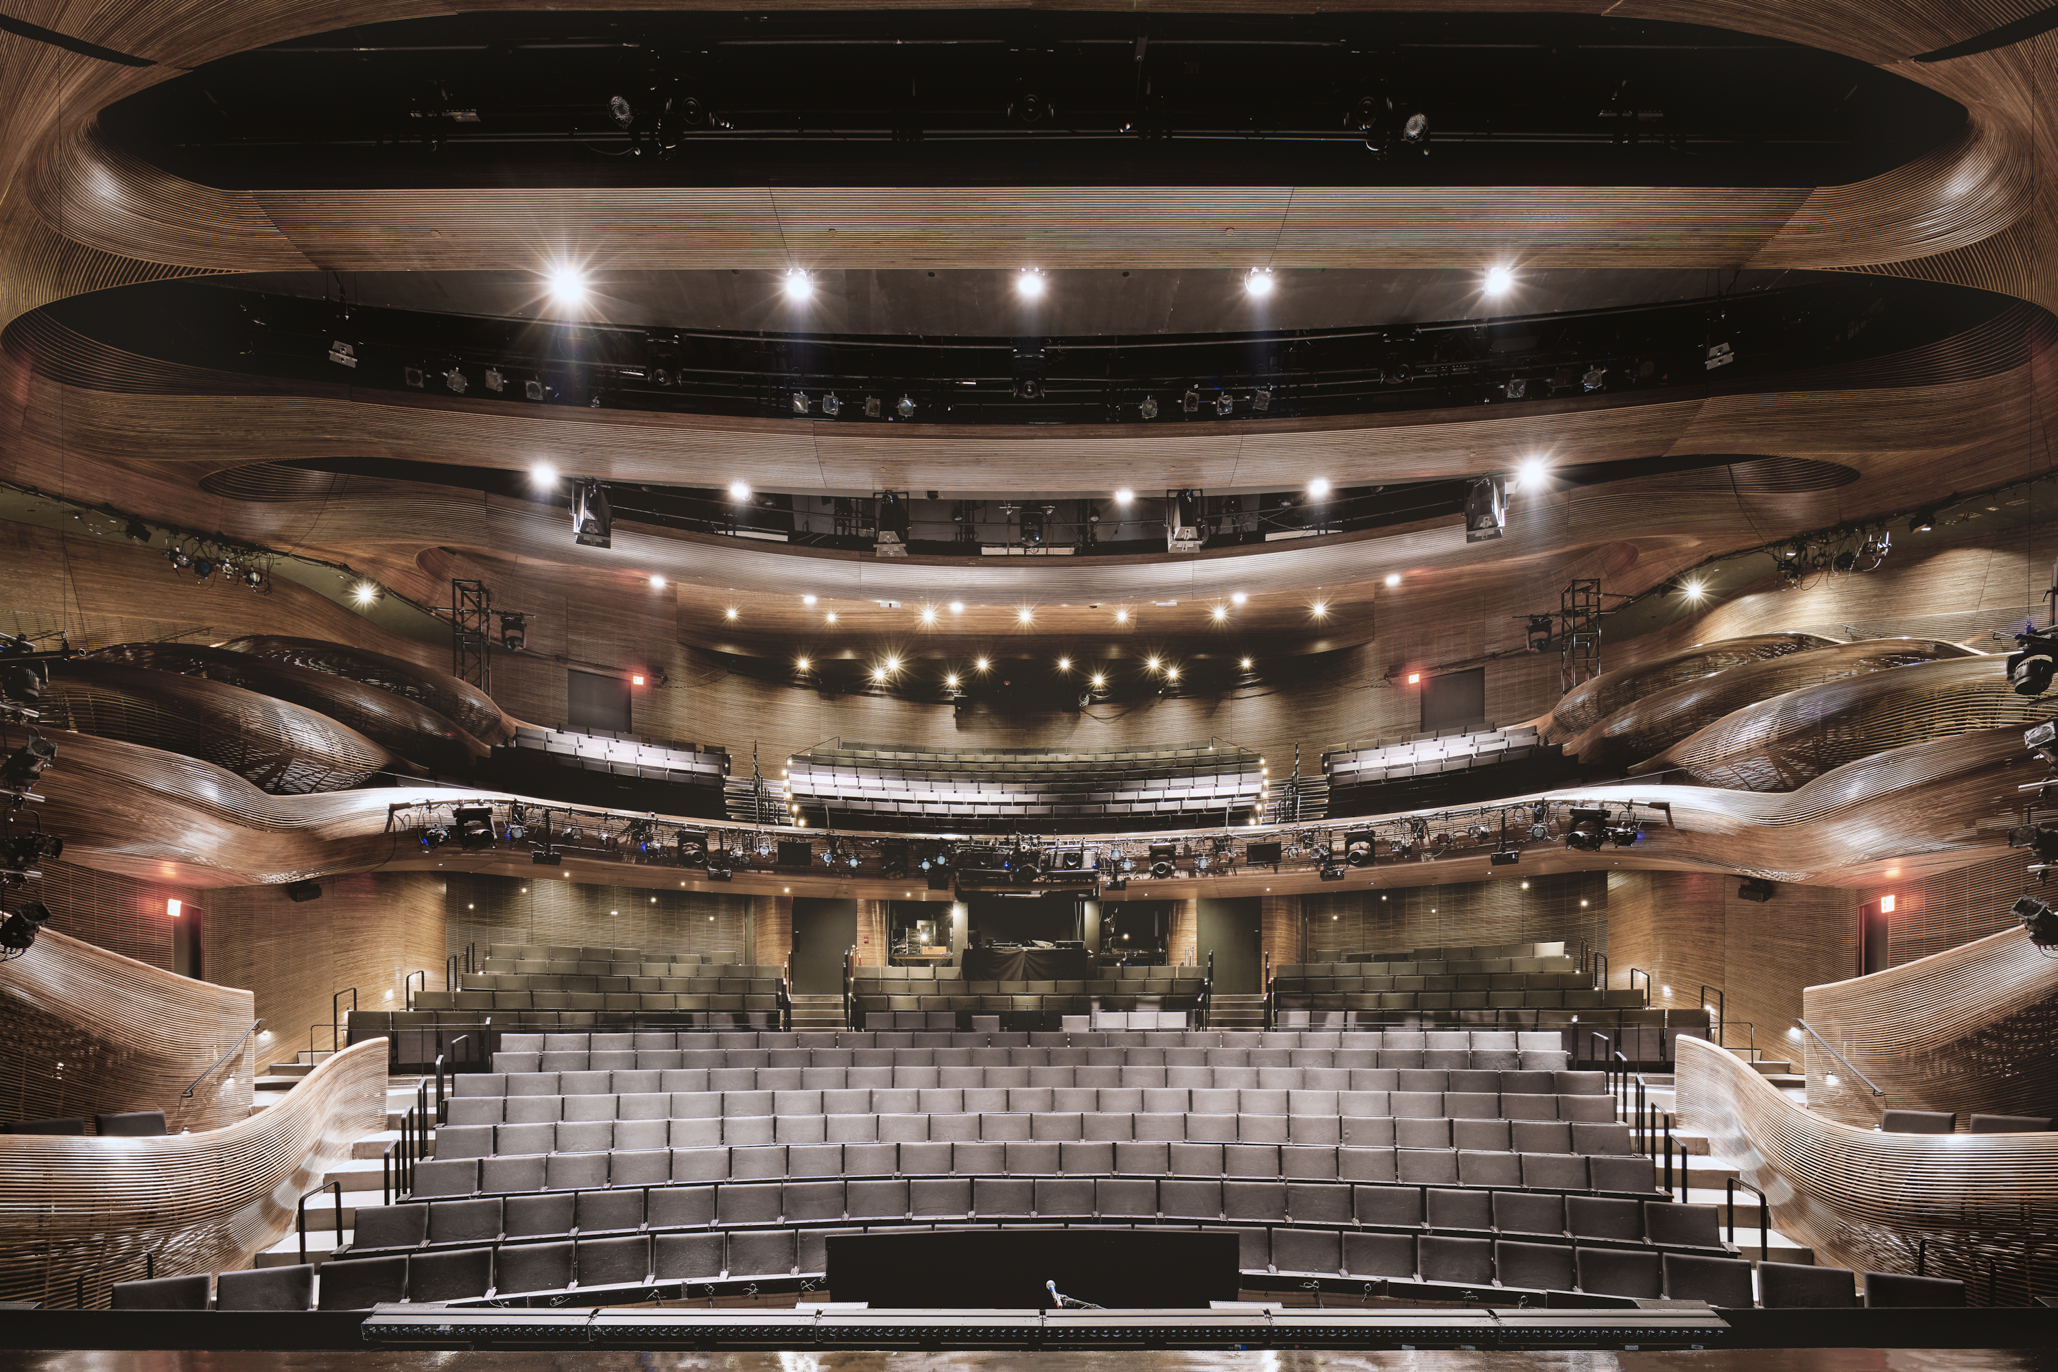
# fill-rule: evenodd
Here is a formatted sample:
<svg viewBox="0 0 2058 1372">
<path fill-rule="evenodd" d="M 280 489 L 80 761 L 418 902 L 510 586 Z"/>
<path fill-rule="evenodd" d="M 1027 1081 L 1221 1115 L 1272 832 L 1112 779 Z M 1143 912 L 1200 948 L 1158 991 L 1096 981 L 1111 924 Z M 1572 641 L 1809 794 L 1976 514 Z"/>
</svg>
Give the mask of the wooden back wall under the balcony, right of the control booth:
<svg viewBox="0 0 2058 1372">
<path fill-rule="evenodd" d="M 1609 950 L 1605 872 L 1558 872 L 1490 880 L 1401 887 L 1406 864 L 1375 868 L 1377 887 L 1356 876 L 1342 891 L 1303 895 L 1307 956 L 1292 963 L 1340 963 L 1346 952 L 1391 952 L 1445 944 L 1527 944 L 1564 940 Z"/>
</svg>

